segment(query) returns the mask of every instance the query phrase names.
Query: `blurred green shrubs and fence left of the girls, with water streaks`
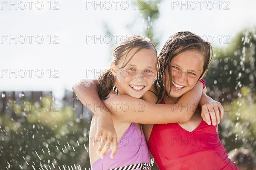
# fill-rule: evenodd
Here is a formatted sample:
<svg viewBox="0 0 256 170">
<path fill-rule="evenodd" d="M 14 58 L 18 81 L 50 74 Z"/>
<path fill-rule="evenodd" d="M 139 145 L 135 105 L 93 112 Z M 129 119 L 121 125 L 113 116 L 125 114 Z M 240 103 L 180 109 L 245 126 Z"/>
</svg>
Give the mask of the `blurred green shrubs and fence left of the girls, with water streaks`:
<svg viewBox="0 0 256 170">
<path fill-rule="evenodd" d="M 6 113 L 1 111 L 0 169 L 90 168 L 90 120 L 47 96 L 41 101 L 23 100 L 25 105 L 15 103 L 9 100 Z"/>
</svg>

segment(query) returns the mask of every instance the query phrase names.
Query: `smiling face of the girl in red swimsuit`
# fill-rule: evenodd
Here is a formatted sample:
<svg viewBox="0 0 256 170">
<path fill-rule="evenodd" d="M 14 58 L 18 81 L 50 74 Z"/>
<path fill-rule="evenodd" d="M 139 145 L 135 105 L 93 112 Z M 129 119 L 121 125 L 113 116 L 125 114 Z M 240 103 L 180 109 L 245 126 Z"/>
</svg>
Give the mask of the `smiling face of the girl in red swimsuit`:
<svg viewBox="0 0 256 170">
<path fill-rule="evenodd" d="M 174 57 L 170 63 L 172 83 L 169 81 L 169 72 L 166 68 L 166 92 L 169 93 L 172 88 L 169 96 L 179 98 L 191 90 L 202 74 L 203 65 L 203 55 L 194 50 L 185 51 Z M 164 77 L 163 75 L 163 79 Z"/>
</svg>

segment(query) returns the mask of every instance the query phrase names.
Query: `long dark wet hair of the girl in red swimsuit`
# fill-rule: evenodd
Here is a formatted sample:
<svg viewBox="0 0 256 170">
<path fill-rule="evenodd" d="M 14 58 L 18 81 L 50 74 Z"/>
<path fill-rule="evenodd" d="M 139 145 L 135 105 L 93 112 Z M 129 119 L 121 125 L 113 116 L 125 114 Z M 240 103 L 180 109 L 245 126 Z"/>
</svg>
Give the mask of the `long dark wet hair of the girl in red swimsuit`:
<svg viewBox="0 0 256 170">
<path fill-rule="evenodd" d="M 209 68 L 209 63 L 212 59 L 212 46 L 209 42 L 204 41 L 201 37 L 189 31 L 181 31 L 172 35 L 166 41 L 158 57 L 158 72 L 157 78 L 154 81 L 154 88 L 158 96 L 156 103 L 161 103 L 164 95 L 167 94 L 168 96 L 172 89 L 170 88 L 169 92 L 167 92 L 165 88 L 166 68 L 168 68 L 169 82 L 170 85 L 172 85 L 170 62 L 178 54 L 188 50 L 196 51 L 204 57 L 203 71 L 200 77 L 202 77 L 204 72 Z M 165 79 L 163 79 L 163 75 Z M 160 88 L 157 88 L 157 86 Z"/>
</svg>

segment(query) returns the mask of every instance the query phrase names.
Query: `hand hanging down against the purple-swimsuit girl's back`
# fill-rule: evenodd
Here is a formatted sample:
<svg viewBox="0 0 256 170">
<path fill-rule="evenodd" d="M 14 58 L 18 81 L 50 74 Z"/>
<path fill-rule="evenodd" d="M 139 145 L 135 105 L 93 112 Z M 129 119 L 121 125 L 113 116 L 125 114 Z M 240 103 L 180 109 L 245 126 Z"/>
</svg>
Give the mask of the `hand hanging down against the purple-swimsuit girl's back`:
<svg viewBox="0 0 256 170">
<path fill-rule="evenodd" d="M 116 155 L 118 149 L 116 130 L 113 125 L 111 114 L 100 114 L 97 120 L 97 133 L 94 138 L 94 145 L 100 141 L 97 153 L 103 158 L 111 147 L 111 159 Z"/>
</svg>

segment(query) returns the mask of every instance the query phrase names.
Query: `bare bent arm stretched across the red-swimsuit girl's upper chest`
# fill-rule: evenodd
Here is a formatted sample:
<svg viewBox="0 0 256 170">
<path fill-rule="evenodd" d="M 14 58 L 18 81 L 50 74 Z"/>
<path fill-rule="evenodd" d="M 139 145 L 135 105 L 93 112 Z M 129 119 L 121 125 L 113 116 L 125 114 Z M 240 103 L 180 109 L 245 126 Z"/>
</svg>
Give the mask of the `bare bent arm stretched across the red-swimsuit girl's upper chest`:
<svg viewBox="0 0 256 170">
<path fill-rule="evenodd" d="M 112 94 L 103 103 L 123 122 L 143 124 L 163 124 L 188 122 L 201 99 L 203 84 L 198 82 L 192 90 L 184 94 L 176 104 L 154 104 L 127 95 Z"/>
</svg>

